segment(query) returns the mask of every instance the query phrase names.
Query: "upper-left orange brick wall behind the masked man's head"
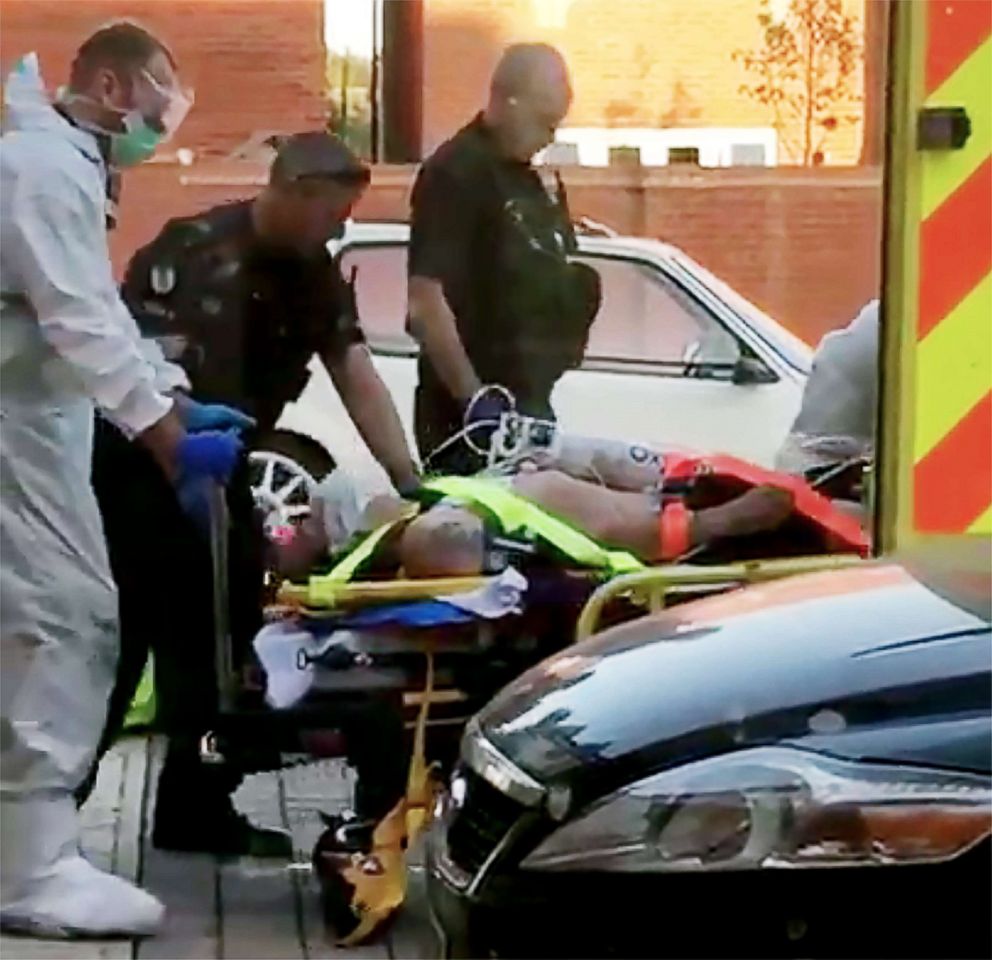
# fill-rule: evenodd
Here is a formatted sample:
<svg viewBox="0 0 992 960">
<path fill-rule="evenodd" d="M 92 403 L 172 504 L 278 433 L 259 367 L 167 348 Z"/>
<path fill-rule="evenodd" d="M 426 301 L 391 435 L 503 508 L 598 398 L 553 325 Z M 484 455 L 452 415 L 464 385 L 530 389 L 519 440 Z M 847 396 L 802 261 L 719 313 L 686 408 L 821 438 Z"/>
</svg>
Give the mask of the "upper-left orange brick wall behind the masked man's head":
<svg viewBox="0 0 992 960">
<path fill-rule="evenodd" d="M 57 87 L 80 42 L 117 17 L 158 33 L 195 88 L 176 146 L 224 154 L 255 131 L 323 125 L 323 0 L 0 0 L 4 73 L 35 50 Z"/>
</svg>

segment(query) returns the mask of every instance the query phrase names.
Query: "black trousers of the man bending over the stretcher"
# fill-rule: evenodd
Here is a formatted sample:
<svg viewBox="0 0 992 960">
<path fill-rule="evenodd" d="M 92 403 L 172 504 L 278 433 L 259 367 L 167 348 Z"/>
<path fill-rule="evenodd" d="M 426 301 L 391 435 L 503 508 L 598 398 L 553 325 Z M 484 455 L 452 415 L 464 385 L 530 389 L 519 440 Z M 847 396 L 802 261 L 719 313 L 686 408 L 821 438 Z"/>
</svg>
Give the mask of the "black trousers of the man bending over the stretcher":
<svg viewBox="0 0 992 960">
<path fill-rule="evenodd" d="M 196 742 L 217 713 L 209 541 L 183 512 L 151 454 L 102 417 L 96 419 L 92 479 L 117 583 L 121 634 L 99 756 L 121 732 L 149 652 L 155 655 L 158 726 L 170 737 Z M 236 654 L 243 654 L 262 623 L 263 570 L 246 465 L 235 472 L 227 496 L 229 615 Z"/>
</svg>

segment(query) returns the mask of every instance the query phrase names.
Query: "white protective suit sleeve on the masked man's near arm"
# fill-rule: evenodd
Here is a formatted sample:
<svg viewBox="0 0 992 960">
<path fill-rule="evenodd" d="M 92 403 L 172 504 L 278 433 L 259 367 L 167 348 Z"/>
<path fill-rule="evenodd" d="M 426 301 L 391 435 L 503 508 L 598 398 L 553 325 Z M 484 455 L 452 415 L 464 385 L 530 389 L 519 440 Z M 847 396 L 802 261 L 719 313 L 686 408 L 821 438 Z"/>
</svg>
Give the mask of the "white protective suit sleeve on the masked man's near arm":
<svg viewBox="0 0 992 960">
<path fill-rule="evenodd" d="M 114 284 L 102 203 L 52 167 L 20 177 L 14 190 L 13 249 L 4 252 L 42 335 L 98 406 L 129 433 L 141 433 L 172 401 L 156 387 L 155 367 Z"/>
</svg>

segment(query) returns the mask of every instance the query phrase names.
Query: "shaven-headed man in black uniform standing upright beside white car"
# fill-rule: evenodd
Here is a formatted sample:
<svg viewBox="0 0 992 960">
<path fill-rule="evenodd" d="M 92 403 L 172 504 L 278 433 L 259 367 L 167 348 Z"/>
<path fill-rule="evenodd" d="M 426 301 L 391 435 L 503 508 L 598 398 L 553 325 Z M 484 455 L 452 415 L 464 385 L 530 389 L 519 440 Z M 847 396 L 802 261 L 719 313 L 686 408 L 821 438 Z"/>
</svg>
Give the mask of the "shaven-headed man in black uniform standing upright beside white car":
<svg viewBox="0 0 992 960">
<path fill-rule="evenodd" d="M 573 260 L 560 178 L 547 189 L 531 165 L 571 98 L 557 50 L 509 47 L 485 110 L 417 176 L 408 301 L 410 331 L 422 348 L 415 423 L 425 467 L 468 473 L 479 466 L 464 445 L 431 454 L 466 415 L 499 415 L 503 400 L 480 394 L 483 387 L 499 384 L 520 412 L 553 419 L 551 391 L 581 363 L 599 308 L 598 275 Z"/>
</svg>

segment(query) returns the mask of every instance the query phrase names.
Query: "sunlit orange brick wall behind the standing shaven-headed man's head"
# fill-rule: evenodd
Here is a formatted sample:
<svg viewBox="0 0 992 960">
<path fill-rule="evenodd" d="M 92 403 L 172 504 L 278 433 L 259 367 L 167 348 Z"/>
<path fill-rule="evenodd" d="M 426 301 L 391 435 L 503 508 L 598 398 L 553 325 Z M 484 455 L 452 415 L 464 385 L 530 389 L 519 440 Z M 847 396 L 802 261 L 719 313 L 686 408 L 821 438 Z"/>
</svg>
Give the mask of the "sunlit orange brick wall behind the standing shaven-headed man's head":
<svg viewBox="0 0 992 960">
<path fill-rule="evenodd" d="M 500 51 L 515 41 L 546 41 L 565 55 L 575 87 L 571 126 L 772 125 L 767 107 L 741 95 L 747 74 L 732 59 L 761 43 L 758 0 L 423 2 L 427 151 L 485 102 Z M 844 0 L 862 26 L 865 2 Z M 858 92 L 860 83 L 858 76 Z M 848 112 L 860 115 L 861 105 Z M 826 143 L 828 162 L 855 163 L 860 144 L 860 123 L 844 127 Z"/>
</svg>

